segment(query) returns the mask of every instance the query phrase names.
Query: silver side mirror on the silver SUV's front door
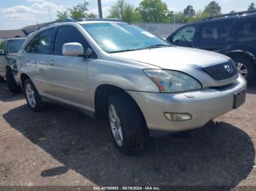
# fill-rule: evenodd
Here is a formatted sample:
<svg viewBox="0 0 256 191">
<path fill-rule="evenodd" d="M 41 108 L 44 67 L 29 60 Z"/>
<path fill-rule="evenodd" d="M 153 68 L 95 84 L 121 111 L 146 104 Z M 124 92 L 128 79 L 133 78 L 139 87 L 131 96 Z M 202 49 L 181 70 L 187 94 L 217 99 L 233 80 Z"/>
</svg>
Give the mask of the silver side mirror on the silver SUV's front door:
<svg viewBox="0 0 256 191">
<path fill-rule="evenodd" d="M 63 44 L 62 46 L 62 55 L 65 56 L 80 56 L 84 54 L 82 44 L 78 42 L 70 42 Z"/>
</svg>

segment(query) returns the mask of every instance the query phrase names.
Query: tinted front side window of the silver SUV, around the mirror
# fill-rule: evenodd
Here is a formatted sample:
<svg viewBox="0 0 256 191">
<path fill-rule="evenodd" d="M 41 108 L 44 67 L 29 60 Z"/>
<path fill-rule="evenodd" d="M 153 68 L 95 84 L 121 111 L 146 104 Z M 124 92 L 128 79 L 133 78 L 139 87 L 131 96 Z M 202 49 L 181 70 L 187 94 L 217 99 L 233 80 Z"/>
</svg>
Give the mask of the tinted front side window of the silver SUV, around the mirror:
<svg viewBox="0 0 256 191">
<path fill-rule="evenodd" d="M 83 45 L 83 50 L 86 51 L 89 48 L 88 42 L 84 39 L 80 31 L 73 26 L 61 26 L 58 28 L 55 44 L 54 44 L 54 54 L 62 55 L 62 46 L 65 43 L 78 42 Z"/>
</svg>

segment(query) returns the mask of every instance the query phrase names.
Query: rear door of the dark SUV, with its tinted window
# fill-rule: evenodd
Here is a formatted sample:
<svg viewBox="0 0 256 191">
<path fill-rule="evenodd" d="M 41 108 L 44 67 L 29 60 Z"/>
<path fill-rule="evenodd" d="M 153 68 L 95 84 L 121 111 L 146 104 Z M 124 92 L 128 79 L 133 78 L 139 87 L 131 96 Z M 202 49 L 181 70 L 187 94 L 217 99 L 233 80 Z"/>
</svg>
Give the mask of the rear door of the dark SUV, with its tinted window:
<svg viewBox="0 0 256 191">
<path fill-rule="evenodd" d="M 231 29 L 233 20 L 213 21 L 200 26 L 196 48 L 219 52 L 235 42 Z"/>
</svg>

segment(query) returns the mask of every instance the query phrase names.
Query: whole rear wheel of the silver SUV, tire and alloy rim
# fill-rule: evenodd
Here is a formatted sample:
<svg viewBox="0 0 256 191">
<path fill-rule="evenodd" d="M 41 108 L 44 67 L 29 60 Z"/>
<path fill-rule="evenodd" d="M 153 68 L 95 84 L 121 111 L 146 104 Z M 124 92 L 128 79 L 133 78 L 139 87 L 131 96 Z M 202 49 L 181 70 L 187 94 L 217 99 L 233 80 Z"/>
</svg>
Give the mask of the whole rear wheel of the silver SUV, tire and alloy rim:
<svg viewBox="0 0 256 191">
<path fill-rule="evenodd" d="M 31 79 L 26 79 L 24 82 L 24 95 L 29 108 L 33 112 L 41 112 L 46 109 L 47 105 L 42 101 Z"/>
</svg>

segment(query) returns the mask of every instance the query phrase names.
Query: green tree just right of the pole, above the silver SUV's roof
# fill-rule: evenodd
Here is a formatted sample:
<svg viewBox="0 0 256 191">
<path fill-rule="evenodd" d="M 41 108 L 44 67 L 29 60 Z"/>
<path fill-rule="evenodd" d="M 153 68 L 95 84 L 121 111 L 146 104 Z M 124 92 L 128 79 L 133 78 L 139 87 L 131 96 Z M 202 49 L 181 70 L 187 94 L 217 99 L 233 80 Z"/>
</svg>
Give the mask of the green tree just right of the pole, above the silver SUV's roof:
<svg viewBox="0 0 256 191">
<path fill-rule="evenodd" d="M 124 0 L 118 0 L 116 4 L 110 7 L 109 18 L 118 18 L 127 23 L 133 23 L 140 21 L 140 15 L 135 7 L 131 4 L 127 4 Z"/>
</svg>

